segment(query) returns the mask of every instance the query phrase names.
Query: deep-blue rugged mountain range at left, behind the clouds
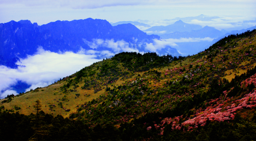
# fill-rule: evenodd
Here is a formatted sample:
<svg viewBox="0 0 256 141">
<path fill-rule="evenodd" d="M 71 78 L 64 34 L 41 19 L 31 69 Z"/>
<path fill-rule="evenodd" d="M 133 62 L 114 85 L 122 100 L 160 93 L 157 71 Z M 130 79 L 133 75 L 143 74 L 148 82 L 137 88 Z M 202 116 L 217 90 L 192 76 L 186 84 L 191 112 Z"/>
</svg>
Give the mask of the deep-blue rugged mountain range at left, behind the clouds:
<svg viewBox="0 0 256 141">
<path fill-rule="evenodd" d="M 137 49 L 140 52 L 146 52 L 145 47 L 141 45 L 154 43 L 154 40 L 160 39 L 157 35 L 143 33 L 132 24 L 111 26 L 107 20 L 90 18 L 70 22 L 58 20 L 42 26 L 32 24 L 29 20 L 10 21 L 0 24 L 0 32 L 0 56 L 2 56 L 0 63 L 2 65 L 6 64 L 7 60 L 35 54 L 38 47 L 51 52 L 78 52 L 81 48 L 95 49 L 89 46 L 95 40 L 113 40 L 125 41 L 129 47 L 139 47 Z M 112 49 L 104 46 L 96 48 L 98 51 L 113 51 Z M 17 68 L 15 61 L 12 61 L 9 67 Z"/>
</svg>

